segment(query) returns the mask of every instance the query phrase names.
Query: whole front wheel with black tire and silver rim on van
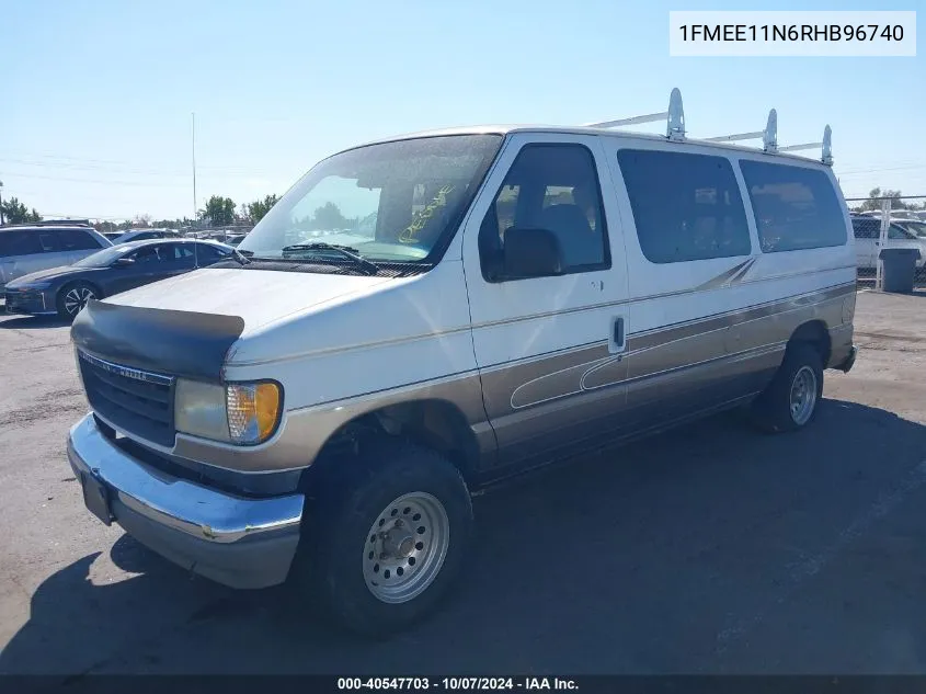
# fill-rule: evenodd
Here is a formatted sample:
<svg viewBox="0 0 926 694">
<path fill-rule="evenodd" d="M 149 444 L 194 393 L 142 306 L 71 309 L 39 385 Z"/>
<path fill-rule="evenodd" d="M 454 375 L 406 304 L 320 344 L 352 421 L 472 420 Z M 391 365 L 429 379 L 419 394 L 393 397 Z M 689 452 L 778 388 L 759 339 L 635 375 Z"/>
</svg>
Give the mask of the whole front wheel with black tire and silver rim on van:
<svg viewBox="0 0 926 694">
<path fill-rule="evenodd" d="M 340 627 L 386 637 L 425 616 L 459 572 L 469 490 L 444 456 L 402 440 L 378 439 L 339 467 L 348 473 L 310 496 L 291 588 Z"/>
</svg>

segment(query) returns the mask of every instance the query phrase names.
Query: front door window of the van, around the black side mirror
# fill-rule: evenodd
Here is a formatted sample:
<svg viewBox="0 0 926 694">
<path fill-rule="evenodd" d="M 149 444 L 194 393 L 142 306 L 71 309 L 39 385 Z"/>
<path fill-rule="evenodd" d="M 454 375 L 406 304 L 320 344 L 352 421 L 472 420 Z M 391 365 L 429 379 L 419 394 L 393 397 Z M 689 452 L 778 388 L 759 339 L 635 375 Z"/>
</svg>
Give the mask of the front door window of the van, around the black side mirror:
<svg viewBox="0 0 926 694">
<path fill-rule="evenodd" d="M 558 241 L 561 273 L 610 268 L 601 186 L 584 145 L 526 145 L 505 177 L 479 232 L 482 275 L 504 282 L 505 232 L 546 229 Z"/>
</svg>

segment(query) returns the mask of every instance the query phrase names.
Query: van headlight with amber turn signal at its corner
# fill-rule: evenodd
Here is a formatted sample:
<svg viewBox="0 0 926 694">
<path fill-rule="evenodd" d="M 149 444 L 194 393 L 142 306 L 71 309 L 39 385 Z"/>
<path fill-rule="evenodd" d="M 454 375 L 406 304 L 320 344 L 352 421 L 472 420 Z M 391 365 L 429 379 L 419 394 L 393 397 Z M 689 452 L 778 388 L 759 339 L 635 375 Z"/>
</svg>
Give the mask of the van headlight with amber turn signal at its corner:
<svg viewBox="0 0 926 694">
<path fill-rule="evenodd" d="M 180 378 L 174 421 L 187 434 L 253 445 L 276 430 L 282 403 L 281 388 L 272 382 L 222 386 Z"/>
</svg>

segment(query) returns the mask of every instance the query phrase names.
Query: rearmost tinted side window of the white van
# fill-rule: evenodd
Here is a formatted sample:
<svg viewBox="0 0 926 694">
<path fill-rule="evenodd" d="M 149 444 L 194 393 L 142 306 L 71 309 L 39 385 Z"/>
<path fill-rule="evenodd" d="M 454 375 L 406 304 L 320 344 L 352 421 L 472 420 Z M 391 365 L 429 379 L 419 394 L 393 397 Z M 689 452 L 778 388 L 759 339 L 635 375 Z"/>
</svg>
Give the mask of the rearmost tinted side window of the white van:
<svg viewBox="0 0 926 694">
<path fill-rule="evenodd" d="M 823 171 L 740 160 L 764 253 L 843 246 L 843 206 Z"/>
</svg>

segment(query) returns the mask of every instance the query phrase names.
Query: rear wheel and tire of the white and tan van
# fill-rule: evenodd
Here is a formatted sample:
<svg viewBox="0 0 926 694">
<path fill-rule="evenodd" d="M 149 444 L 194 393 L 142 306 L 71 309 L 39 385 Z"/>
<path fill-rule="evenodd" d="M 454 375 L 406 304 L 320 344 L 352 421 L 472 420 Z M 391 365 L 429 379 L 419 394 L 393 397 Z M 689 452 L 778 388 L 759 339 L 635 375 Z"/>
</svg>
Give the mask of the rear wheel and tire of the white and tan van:
<svg viewBox="0 0 926 694">
<path fill-rule="evenodd" d="M 769 433 L 804 429 L 816 417 L 822 396 L 820 353 L 812 344 L 794 342 L 788 345 L 775 378 L 753 403 L 753 421 Z"/>
</svg>

